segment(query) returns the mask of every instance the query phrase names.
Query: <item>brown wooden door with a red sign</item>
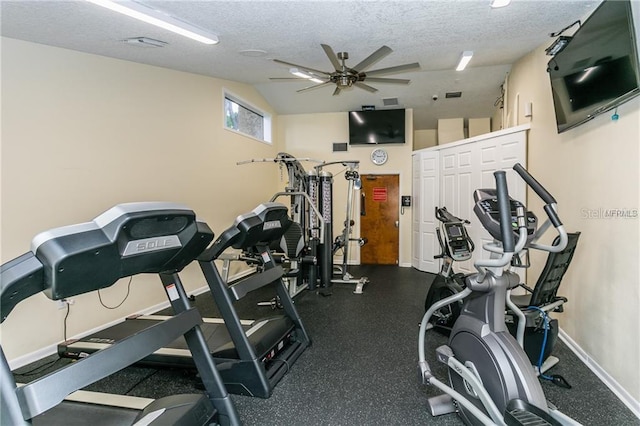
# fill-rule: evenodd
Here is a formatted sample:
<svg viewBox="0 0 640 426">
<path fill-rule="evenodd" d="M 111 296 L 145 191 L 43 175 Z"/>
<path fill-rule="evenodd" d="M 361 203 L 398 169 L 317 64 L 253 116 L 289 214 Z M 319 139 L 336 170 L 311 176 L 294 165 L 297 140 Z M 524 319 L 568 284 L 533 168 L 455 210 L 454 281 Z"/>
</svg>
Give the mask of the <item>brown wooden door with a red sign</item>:
<svg viewBox="0 0 640 426">
<path fill-rule="evenodd" d="M 399 258 L 399 175 L 362 175 L 360 263 L 397 265 Z"/>
</svg>

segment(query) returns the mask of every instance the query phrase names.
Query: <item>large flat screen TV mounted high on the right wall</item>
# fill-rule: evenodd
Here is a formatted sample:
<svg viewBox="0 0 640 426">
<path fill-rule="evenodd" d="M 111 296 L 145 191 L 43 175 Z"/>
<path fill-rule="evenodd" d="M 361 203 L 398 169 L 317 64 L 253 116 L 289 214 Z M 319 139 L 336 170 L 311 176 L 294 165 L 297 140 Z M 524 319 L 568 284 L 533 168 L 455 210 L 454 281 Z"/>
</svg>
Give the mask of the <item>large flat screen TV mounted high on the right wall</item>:
<svg viewBox="0 0 640 426">
<path fill-rule="evenodd" d="M 640 93 L 631 5 L 604 1 L 549 61 L 558 133 Z"/>
</svg>

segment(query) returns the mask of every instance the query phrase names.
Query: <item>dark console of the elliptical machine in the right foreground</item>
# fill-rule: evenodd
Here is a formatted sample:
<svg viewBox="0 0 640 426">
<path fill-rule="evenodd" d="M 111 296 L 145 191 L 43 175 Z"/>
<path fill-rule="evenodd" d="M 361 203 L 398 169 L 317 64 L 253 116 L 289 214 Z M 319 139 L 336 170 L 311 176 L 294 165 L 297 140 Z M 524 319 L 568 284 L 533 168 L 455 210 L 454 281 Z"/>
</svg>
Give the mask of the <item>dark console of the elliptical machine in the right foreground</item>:
<svg viewBox="0 0 640 426">
<path fill-rule="evenodd" d="M 502 236 L 500 235 L 500 212 L 498 211 L 498 199 L 495 195 L 495 190 L 479 189 L 474 192 L 473 196 L 476 201 L 473 211 L 480 220 L 480 223 L 493 238 L 498 241 L 502 241 Z M 518 207 L 522 207 L 525 210 L 527 242 L 529 242 L 536 235 L 536 230 L 538 229 L 538 218 L 532 212 L 527 211 L 524 204 L 511 197 L 509 197 L 509 205 L 511 210 L 511 227 L 516 241 L 520 232 L 518 230 L 516 209 Z"/>
</svg>

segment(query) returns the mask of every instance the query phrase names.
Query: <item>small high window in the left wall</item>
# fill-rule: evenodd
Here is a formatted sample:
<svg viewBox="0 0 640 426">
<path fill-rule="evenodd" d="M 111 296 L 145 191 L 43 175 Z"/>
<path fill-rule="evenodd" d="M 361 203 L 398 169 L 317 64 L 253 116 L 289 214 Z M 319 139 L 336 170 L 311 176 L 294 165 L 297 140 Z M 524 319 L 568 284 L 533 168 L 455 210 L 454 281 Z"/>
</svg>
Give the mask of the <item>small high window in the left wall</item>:
<svg viewBox="0 0 640 426">
<path fill-rule="evenodd" d="M 226 92 L 224 126 L 229 130 L 271 143 L 271 117 Z"/>
</svg>

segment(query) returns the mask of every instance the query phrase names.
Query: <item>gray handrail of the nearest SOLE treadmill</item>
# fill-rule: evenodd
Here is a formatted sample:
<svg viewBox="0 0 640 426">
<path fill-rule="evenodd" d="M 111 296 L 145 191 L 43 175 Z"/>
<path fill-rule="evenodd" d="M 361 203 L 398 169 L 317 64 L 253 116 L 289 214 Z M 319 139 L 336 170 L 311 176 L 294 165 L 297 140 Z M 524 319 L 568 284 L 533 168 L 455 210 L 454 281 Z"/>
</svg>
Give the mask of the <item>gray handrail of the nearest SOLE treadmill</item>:
<svg viewBox="0 0 640 426">
<path fill-rule="evenodd" d="M 76 390 L 134 364 L 200 324 L 202 317 L 192 308 L 16 389 L 23 416 L 30 419 L 55 407 Z"/>
</svg>

